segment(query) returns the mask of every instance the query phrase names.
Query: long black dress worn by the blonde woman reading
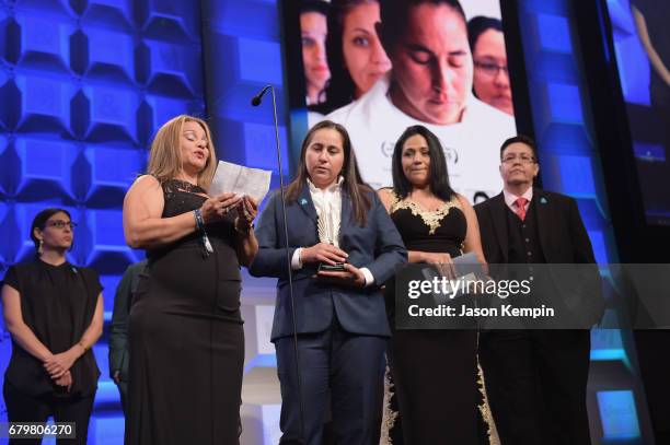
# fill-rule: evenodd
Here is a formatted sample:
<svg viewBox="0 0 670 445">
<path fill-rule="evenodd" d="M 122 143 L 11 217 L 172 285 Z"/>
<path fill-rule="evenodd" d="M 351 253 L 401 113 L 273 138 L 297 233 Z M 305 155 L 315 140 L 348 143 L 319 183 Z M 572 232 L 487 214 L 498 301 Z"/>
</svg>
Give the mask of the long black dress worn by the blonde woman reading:
<svg viewBox="0 0 670 445">
<path fill-rule="evenodd" d="M 199 208 L 200 188 L 162 185 L 162 218 Z M 126 444 L 238 444 L 244 337 L 234 227 L 208 225 L 149 250 L 130 309 Z"/>
</svg>

